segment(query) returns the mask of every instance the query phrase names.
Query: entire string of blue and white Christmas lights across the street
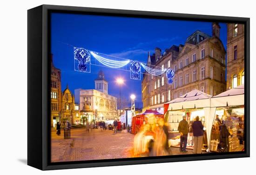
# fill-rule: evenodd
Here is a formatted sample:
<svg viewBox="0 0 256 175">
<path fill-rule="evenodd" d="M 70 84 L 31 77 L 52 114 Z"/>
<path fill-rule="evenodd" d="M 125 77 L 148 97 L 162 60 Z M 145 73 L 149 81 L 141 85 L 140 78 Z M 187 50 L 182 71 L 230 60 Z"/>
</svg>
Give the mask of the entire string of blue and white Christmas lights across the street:
<svg viewBox="0 0 256 175">
<path fill-rule="evenodd" d="M 115 56 L 109 56 L 106 54 L 101 54 L 98 52 L 89 51 L 84 48 L 78 48 L 78 47 L 74 47 L 75 70 L 90 73 L 91 64 L 96 66 L 102 66 L 94 62 L 91 63 L 91 55 L 95 58 L 95 60 L 97 60 L 98 62 L 100 62 L 106 67 L 114 68 L 114 69 L 120 69 L 123 67 L 122 70 L 130 71 L 130 78 L 133 80 L 141 80 L 141 73 L 159 76 L 166 72 L 167 84 L 173 83 L 174 71 L 172 69 L 165 69 L 162 67 L 148 65 L 146 63 L 141 63 L 134 60 L 128 60 L 128 59 L 123 59 Z M 113 59 L 108 59 L 106 57 L 111 57 Z M 114 60 L 114 57 L 115 57 L 115 60 Z M 119 61 L 116 59 L 121 59 L 122 61 Z M 126 65 L 128 65 L 128 63 L 130 63 L 130 66 L 125 67 Z M 141 70 L 141 67 L 145 70 L 145 72 Z M 152 67 L 154 67 L 154 69 Z"/>
</svg>

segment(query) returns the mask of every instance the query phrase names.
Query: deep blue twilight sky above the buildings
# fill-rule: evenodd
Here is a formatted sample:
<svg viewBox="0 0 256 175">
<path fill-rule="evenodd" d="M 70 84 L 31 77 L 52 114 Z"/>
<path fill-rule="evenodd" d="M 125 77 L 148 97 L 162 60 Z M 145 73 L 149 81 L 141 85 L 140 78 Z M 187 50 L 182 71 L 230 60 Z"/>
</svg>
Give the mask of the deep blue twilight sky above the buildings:
<svg viewBox="0 0 256 175">
<path fill-rule="evenodd" d="M 220 38 L 226 49 L 227 26 L 224 23 L 220 26 Z M 185 44 L 186 38 L 196 30 L 211 36 L 211 23 L 52 13 L 51 52 L 54 66 L 61 69 L 62 91 L 67 83 L 72 93 L 76 88 L 93 89 L 94 79 L 99 70 L 103 70 L 108 81 L 108 94 L 119 97 L 115 79 L 123 77 L 122 96 L 129 99 L 135 94 L 136 107 L 142 107 L 141 81 L 131 80 L 127 71 L 100 66 L 91 66 L 91 73 L 74 71 L 74 48 L 67 44 L 146 63 L 148 51 L 152 55 L 158 47 L 163 53 L 173 44 Z"/>
</svg>

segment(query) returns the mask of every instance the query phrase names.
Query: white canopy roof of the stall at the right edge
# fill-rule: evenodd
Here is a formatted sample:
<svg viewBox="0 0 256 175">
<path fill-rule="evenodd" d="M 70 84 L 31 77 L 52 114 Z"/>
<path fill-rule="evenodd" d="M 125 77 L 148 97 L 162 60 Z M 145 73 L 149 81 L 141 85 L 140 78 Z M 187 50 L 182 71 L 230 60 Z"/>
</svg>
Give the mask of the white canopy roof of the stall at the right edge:
<svg viewBox="0 0 256 175">
<path fill-rule="evenodd" d="M 211 98 L 211 107 L 244 105 L 244 85 L 229 89 Z"/>
</svg>

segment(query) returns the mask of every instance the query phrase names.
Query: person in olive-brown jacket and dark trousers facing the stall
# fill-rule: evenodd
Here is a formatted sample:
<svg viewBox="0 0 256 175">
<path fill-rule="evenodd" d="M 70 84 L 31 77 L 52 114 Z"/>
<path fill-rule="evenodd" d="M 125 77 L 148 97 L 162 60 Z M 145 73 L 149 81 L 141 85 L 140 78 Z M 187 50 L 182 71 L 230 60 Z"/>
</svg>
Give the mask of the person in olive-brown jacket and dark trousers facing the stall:
<svg viewBox="0 0 256 175">
<path fill-rule="evenodd" d="M 188 133 L 189 133 L 189 123 L 186 120 L 186 116 L 182 116 L 182 121 L 180 121 L 178 126 L 178 131 L 181 134 L 181 142 L 180 142 L 180 152 L 188 152 L 186 150 L 187 141 L 188 141 Z"/>
</svg>

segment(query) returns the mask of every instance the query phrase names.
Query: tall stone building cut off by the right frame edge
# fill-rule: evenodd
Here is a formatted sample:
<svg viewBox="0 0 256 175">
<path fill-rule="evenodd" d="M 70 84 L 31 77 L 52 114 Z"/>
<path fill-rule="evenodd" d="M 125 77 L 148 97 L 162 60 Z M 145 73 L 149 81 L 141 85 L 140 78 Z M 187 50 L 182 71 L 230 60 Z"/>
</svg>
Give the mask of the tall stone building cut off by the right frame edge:
<svg viewBox="0 0 256 175">
<path fill-rule="evenodd" d="M 244 25 L 227 24 L 227 89 L 244 84 Z"/>
</svg>

